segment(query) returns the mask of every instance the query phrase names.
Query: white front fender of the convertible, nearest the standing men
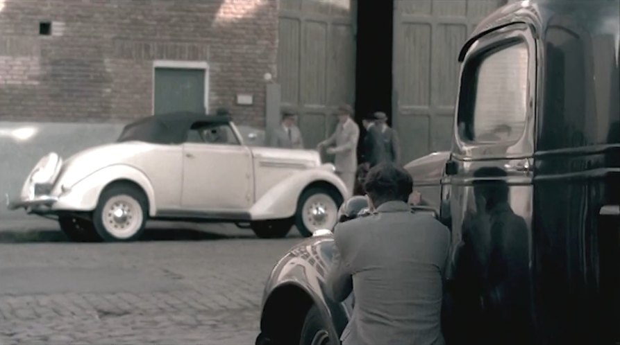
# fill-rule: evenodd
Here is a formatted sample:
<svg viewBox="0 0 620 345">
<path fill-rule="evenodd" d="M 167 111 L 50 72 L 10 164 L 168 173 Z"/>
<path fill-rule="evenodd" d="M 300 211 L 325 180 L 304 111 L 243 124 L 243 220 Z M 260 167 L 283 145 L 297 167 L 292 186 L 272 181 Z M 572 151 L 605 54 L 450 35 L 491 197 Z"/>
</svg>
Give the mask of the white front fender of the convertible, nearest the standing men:
<svg viewBox="0 0 620 345">
<path fill-rule="evenodd" d="M 276 184 L 254 203 L 250 209 L 251 219 L 271 220 L 292 217 L 296 212 L 297 201 L 301 193 L 315 182 L 330 184 L 346 200 L 349 197 L 349 191 L 330 167 L 329 164 L 324 164 L 317 168 L 303 170 Z"/>
</svg>

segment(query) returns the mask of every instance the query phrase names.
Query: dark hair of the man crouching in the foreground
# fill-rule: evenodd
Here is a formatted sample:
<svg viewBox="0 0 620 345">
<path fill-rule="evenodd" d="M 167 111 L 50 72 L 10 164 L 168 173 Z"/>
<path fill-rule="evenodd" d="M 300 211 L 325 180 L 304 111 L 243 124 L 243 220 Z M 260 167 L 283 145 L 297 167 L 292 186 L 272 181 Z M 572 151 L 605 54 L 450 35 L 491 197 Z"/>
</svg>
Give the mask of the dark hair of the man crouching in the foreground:
<svg viewBox="0 0 620 345">
<path fill-rule="evenodd" d="M 407 202 L 413 191 L 413 179 L 396 164 L 380 163 L 366 175 L 364 190 L 375 207 L 389 201 Z"/>
</svg>

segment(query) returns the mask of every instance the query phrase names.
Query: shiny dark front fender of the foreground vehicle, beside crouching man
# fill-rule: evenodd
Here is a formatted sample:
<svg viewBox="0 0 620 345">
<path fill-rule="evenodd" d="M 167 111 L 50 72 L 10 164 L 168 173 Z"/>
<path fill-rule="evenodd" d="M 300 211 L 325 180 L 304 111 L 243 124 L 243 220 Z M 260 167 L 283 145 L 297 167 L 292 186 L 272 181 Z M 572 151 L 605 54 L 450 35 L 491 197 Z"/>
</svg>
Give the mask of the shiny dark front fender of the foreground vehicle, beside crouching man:
<svg viewBox="0 0 620 345">
<path fill-rule="evenodd" d="M 285 292 L 294 288 L 303 292 L 303 296 L 309 297 L 319 308 L 323 319 L 327 321 L 330 337 L 339 339 L 351 316 L 352 296 L 339 303 L 331 299 L 326 291 L 326 276 L 332 264 L 333 245 L 331 236 L 308 238 L 290 249 L 278 261 L 265 285 L 261 315 L 262 332 L 268 334 L 277 332 L 278 330 L 268 329 L 269 325 L 282 324 L 280 321 L 284 318 L 298 317 L 303 322 L 305 315 L 286 315 L 284 309 L 285 306 L 301 303 L 301 295 Z"/>
</svg>

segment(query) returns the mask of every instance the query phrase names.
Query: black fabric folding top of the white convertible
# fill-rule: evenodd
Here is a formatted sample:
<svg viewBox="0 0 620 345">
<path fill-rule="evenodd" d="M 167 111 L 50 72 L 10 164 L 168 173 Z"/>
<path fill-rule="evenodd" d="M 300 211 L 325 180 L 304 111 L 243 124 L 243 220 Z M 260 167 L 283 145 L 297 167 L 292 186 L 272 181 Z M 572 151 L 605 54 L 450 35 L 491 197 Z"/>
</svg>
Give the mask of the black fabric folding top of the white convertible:
<svg viewBox="0 0 620 345">
<path fill-rule="evenodd" d="M 126 125 L 117 142 L 184 143 L 187 138 L 187 132 L 194 123 L 228 123 L 230 121 L 230 116 L 185 112 L 148 116 Z"/>
</svg>

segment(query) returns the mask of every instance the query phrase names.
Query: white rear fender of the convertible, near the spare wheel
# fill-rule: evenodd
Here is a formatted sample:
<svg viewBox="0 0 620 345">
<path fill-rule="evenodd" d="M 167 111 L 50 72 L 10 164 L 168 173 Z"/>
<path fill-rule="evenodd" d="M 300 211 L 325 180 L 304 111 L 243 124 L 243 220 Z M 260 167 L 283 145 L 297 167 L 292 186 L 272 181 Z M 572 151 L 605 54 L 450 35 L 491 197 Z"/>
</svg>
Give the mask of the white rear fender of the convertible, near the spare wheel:
<svg viewBox="0 0 620 345">
<path fill-rule="evenodd" d="M 58 202 L 53 204 L 52 210 L 93 211 L 97 207 L 103 188 L 118 180 L 131 181 L 140 186 L 149 199 L 149 215 L 156 215 L 155 192 L 149 178 L 144 172 L 126 164 L 106 166 L 80 179 L 72 186 L 59 186 L 67 190 L 60 192 Z"/>
</svg>

